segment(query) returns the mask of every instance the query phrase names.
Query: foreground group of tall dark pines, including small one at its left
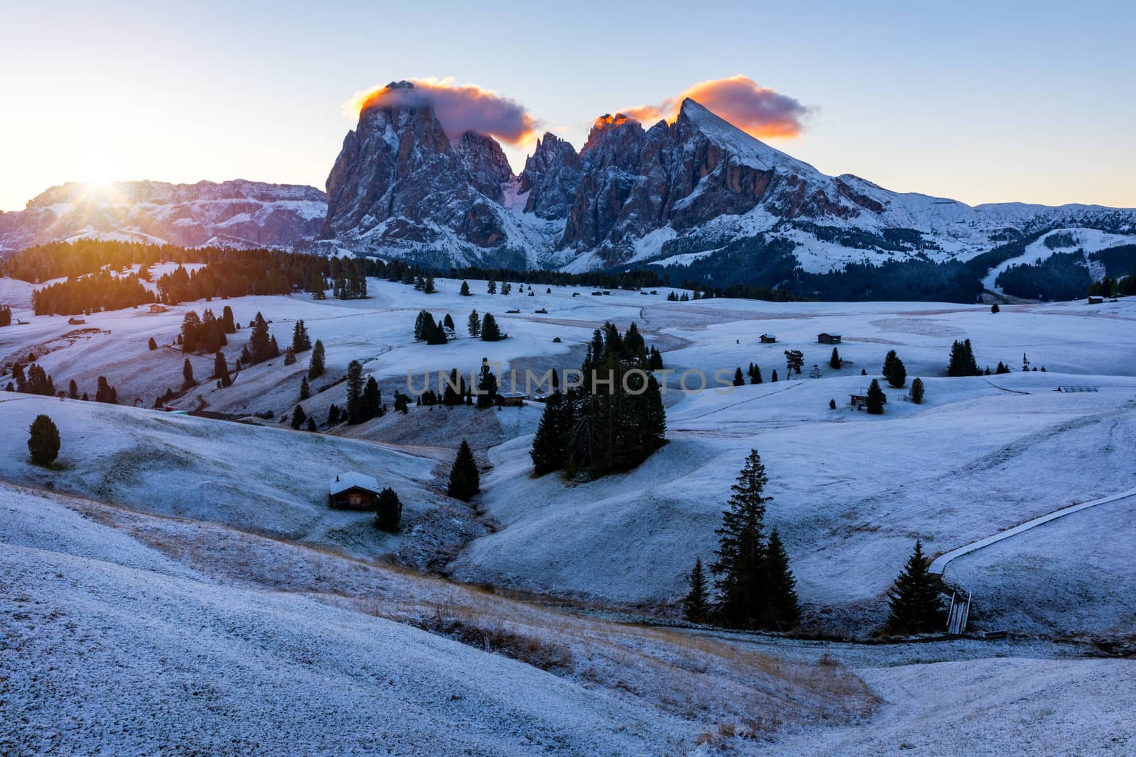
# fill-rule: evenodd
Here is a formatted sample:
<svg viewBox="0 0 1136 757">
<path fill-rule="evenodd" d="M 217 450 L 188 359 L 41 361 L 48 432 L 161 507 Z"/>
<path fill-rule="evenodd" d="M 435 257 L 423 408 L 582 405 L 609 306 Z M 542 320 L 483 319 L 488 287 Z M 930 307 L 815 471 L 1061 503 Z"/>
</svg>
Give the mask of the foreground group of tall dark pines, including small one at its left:
<svg viewBox="0 0 1136 757">
<path fill-rule="evenodd" d="M 733 485 L 727 510 L 717 529 L 715 575 L 717 603 L 709 598 L 702 561 L 688 578 L 684 615 L 693 622 L 716 621 L 726 628 L 786 631 L 800 621 L 796 580 L 777 530 L 766 535 L 765 465 L 757 449 L 750 452 Z"/>
</svg>

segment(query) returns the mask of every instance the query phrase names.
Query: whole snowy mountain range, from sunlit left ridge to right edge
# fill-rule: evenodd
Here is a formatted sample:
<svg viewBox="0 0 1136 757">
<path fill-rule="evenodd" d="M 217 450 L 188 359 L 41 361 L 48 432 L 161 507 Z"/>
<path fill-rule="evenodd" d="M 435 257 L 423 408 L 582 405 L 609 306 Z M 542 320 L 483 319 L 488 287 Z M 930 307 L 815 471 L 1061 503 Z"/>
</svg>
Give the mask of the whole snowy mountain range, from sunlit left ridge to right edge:
<svg viewBox="0 0 1136 757">
<path fill-rule="evenodd" d="M 360 111 L 326 188 L 66 184 L 24 211 L 0 213 L 0 251 L 110 236 L 403 258 L 442 269 L 652 266 L 676 280 L 698 274 L 776 285 L 791 272 L 822 276 L 850 263 L 969 261 L 1053 229 L 1136 242 L 1136 210 L 971 207 L 827 176 L 691 99 L 673 123 L 602 116 L 579 151 L 546 133 L 519 175 L 491 136 L 448 134 L 428 99 L 382 99 Z"/>
</svg>

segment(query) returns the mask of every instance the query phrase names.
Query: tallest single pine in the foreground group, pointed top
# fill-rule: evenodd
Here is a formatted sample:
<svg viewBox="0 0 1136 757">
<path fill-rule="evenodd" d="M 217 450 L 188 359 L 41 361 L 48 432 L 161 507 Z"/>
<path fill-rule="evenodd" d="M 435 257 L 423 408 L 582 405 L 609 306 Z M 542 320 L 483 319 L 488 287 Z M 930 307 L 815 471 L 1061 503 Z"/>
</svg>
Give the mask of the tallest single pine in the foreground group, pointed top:
<svg viewBox="0 0 1136 757">
<path fill-rule="evenodd" d="M 728 510 L 721 514 L 718 535 L 718 560 L 710 566 L 717 577 L 720 597 L 718 613 L 729 628 L 753 628 L 765 615 L 768 591 L 765 583 L 765 518 L 762 496 L 766 468 L 757 449 L 750 452 L 745 465 L 733 485 Z"/>
</svg>

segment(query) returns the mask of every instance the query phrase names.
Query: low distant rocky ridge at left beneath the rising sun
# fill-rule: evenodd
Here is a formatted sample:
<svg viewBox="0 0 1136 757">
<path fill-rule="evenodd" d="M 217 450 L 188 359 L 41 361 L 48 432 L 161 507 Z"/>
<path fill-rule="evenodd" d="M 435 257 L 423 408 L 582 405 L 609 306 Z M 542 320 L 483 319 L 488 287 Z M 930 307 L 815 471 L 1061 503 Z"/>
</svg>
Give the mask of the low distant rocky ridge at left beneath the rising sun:
<svg viewBox="0 0 1136 757">
<path fill-rule="evenodd" d="M 326 212 L 323 192 L 292 184 L 68 183 L 33 197 L 25 210 L 0 213 L 0 252 L 77 238 L 291 247 L 314 237 Z"/>
</svg>

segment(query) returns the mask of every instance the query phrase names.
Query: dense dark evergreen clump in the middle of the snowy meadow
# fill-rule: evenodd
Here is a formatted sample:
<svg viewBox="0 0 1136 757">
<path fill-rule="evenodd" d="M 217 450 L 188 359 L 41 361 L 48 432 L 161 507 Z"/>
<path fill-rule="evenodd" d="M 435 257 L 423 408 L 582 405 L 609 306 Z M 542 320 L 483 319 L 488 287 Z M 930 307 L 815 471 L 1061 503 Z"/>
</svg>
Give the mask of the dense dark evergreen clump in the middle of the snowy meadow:
<svg viewBox="0 0 1136 757">
<path fill-rule="evenodd" d="M 545 402 L 529 453 L 537 476 L 628 470 L 665 443 L 662 396 L 634 323 L 623 335 L 610 322 L 596 329 L 580 369 L 583 386 Z"/>
</svg>

